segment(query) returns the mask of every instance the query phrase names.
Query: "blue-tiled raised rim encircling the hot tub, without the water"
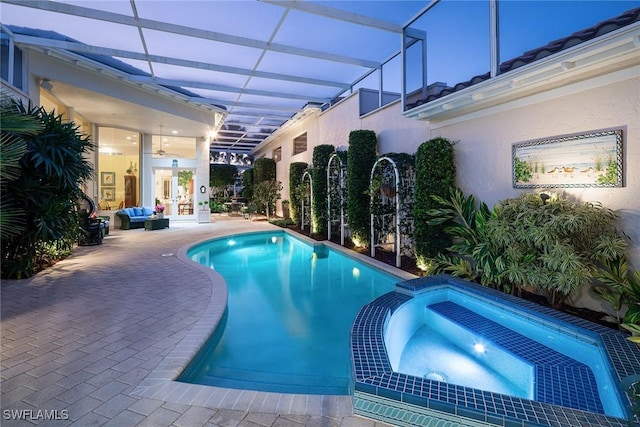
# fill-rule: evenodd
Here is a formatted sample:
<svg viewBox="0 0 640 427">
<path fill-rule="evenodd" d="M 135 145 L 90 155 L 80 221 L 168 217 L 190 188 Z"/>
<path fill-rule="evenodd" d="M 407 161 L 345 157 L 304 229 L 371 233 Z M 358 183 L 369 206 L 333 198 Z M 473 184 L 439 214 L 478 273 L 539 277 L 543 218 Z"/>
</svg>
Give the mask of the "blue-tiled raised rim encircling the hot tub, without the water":
<svg viewBox="0 0 640 427">
<path fill-rule="evenodd" d="M 394 372 L 383 335 L 389 316 L 413 295 L 443 286 L 457 286 L 464 291 L 481 294 L 501 305 L 517 307 L 519 311 L 535 315 L 536 318 L 560 323 L 569 331 L 580 331 L 582 335 L 585 330 L 588 331 L 589 335 L 603 343 L 613 367 L 613 377 L 618 383 L 627 376 L 640 373 L 640 351 L 621 332 L 452 276 L 429 276 L 398 284 L 395 291 L 364 306 L 358 314 L 352 328 L 356 414 L 399 425 L 418 425 L 410 420 L 420 417 L 448 420 L 451 416 L 463 417 L 470 425 L 627 425 L 626 419 Z"/>
</svg>

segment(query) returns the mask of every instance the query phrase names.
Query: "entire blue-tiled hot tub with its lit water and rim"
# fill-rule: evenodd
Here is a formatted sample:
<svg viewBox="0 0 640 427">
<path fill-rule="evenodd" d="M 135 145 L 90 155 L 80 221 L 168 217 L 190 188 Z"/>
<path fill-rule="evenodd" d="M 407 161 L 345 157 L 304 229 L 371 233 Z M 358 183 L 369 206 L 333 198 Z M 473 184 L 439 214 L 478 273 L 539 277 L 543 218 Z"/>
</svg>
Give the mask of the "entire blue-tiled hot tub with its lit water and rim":
<svg viewBox="0 0 640 427">
<path fill-rule="evenodd" d="M 433 334 L 444 352 L 407 354 L 442 351 Z M 469 359 L 491 372 L 462 378 L 478 375 Z M 619 383 L 640 372 L 624 334 L 450 276 L 399 283 L 364 306 L 352 360 L 355 412 L 401 425 L 623 426 Z M 506 388 L 490 389 L 497 376 Z"/>
</svg>

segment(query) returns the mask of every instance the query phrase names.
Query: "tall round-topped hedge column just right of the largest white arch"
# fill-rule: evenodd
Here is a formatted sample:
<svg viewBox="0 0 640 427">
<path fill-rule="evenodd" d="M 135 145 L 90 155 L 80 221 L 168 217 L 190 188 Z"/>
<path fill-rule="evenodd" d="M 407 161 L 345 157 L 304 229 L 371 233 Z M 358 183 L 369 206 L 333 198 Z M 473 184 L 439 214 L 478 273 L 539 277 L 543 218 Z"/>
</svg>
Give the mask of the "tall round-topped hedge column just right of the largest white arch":
<svg viewBox="0 0 640 427">
<path fill-rule="evenodd" d="M 418 147 L 415 155 L 415 252 L 417 259 L 435 258 L 451 245 L 445 233 L 445 223 L 429 222 L 431 209 L 441 207 L 432 196 L 447 198 L 455 187 L 455 143 L 446 138 L 434 138 Z"/>
</svg>

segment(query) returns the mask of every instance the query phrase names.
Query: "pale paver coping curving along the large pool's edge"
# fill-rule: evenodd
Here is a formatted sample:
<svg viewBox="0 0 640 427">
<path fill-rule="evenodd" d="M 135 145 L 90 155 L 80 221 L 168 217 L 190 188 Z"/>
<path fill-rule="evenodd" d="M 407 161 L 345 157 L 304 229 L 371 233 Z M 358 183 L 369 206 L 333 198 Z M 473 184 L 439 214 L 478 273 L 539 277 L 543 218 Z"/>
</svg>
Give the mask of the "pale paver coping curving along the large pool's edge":
<svg viewBox="0 0 640 427">
<path fill-rule="evenodd" d="M 222 319 L 227 307 L 227 283 L 216 271 L 192 261 L 187 252 L 190 248 L 211 240 L 247 234 L 285 233 L 312 246 L 326 246 L 350 258 L 377 267 L 398 277 L 398 281 L 415 278 L 404 270 L 346 249 L 330 241 L 316 241 L 283 228 L 273 230 L 230 232 L 208 237 L 182 246 L 176 253 L 178 260 L 187 267 L 206 275 L 211 282 L 211 297 L 207 308 L 188 331 L 185 337 L 171 350 L 156 368 L 132 391 L 132 395 L 216 409 L 234 409 L 280 414 L 319 415 L 344 417 L 353 415 L 352 395 L 307 395 L 270 393 L 255 390 L 239 390 L 188 384 L 176 381 L 187 365 L 196 356 Z"/>
</svg>

